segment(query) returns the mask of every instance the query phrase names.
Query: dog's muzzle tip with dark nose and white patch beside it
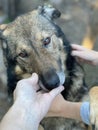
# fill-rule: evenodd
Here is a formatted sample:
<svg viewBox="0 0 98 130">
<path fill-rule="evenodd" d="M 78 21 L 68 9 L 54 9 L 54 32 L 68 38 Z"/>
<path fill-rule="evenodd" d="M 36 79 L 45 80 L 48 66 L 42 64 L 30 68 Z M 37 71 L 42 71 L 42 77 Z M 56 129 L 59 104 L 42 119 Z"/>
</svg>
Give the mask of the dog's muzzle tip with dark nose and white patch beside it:
<svg viewBox="0 0 98 130">
<path fill-rule="evenodd" d="M 60 85 L 63 85 L 65 82 L 66 76 L 63 71 L 56 72 L 53 75 L 48 73 L 48 75 L 44 78 L 44 76 L 40 77 L 39 80 L 39 86 L 44 91 L 48 92 L 54 88 L 59 87 Z"/>
</svg>

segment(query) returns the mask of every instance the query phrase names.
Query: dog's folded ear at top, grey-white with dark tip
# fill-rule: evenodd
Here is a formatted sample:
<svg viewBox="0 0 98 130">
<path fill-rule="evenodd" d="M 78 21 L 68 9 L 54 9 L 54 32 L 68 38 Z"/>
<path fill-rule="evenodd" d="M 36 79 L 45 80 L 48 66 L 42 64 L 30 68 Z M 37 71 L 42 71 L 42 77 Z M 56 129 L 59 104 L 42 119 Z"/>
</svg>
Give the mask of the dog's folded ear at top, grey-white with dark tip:
<svg viewBox="0 0 98 130">
<path fill-rule="evenodd" d="M 38 11 L 39 11 L 39 14 L 43 15 L 49 20 L 54 20 L 61 16 L 61 12 L 51 5 L 39 6 Z"/>
</svg>

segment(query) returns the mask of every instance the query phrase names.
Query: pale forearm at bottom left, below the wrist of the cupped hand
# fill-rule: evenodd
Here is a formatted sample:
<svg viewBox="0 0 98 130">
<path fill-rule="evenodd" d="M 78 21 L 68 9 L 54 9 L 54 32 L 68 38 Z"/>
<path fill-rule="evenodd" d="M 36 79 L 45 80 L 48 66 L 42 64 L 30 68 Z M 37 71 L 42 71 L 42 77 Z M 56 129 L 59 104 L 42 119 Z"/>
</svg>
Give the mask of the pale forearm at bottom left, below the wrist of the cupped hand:
<svg viewBox="0 0 98 130">
<path fill-rule="evenodd" d="M 15 102 L 2 119 L 0 130 L 38 130 L 38 123 L 33 122 L 33 116 L 27 107 Z"/>
</svg>

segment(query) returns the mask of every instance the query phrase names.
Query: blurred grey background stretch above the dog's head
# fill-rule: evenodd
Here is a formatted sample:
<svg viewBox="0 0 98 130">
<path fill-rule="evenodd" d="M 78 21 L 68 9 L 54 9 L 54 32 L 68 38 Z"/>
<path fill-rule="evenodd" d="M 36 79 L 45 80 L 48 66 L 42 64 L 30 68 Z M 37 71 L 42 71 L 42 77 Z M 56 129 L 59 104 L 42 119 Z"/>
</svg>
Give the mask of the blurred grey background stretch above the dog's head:
<svg viewBox="0 0 98 130">
<path fill-rule="evenodd" d="M 62 13 L 57 21 L 72 42 L 81 43 L 96 0 L 0 0 L 0 23 L 11 22 L 17 16 L 44 3 L 52 4 Z M 67 27 L 67 29 L 66 29 Z M 73 33 L 74 32 L 74 33 Z"/>
</svg>

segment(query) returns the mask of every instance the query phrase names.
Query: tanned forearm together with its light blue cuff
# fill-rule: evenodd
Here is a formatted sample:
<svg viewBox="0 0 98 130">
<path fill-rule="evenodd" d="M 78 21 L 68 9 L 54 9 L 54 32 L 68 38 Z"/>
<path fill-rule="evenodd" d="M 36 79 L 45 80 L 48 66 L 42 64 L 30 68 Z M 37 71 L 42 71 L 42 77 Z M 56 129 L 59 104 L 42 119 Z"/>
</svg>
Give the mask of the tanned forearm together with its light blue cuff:
<svg viewBox="0 0 98 130">
<path fill-rule="evenodd" d="M 90 124 L 89 102 L 69 102 L 66 100 L 61 100 L 58 106 L 59 107 L 51 109 L 47 116 L 75 119 L 83 121 L 88 125 Z"/>
</svg>

